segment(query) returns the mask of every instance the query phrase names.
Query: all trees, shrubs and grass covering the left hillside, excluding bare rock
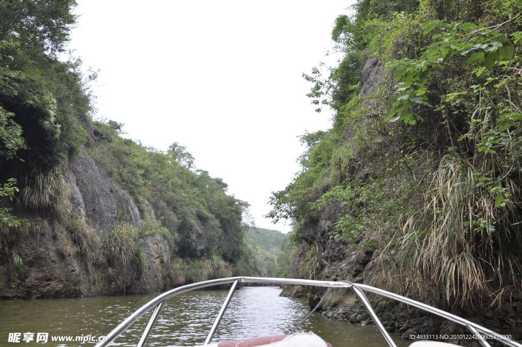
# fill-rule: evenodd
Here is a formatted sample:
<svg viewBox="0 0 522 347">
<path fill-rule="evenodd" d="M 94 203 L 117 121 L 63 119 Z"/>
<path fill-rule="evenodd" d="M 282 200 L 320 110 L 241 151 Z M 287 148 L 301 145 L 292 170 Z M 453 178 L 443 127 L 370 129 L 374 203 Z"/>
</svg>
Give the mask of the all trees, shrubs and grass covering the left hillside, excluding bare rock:
<svg viewBox="0 0 522 347">
<path fill-rule="evenodd" d="M 178 143 L 159 151 L 121 137 L 122 123 L 92 120 L 89 85 L 97 73 L 82 75 L 79 59 L 57 59 L 76 5 L 0 2 L 0 257 L 20 269 L 17 242 L 37 237 L 45 223 L 63 257 L 86 257 L 111 273 L 145 265 L 140 242 L 149 235 L 170 242 L 172 264 L 163 277 L 171 285 L 266 273 L 265 258 L 244 239 L 248 204 L 227 194 L 222 179 L 196 169 Z M 150 214 L 150 202 L 157 221 L 149 216 L 136 226 L 118 211 L 119 224 L 102 234 L 73 216 L 64 172 L 79 154 L 101 163 L 142 215 Z"/>
</svg>

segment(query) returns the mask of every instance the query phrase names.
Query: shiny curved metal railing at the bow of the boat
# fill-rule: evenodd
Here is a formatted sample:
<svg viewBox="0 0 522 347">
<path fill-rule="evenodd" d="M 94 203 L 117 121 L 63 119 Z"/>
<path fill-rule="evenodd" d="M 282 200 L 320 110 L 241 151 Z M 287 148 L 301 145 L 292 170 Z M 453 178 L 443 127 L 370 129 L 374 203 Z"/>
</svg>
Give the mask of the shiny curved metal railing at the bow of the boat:
<svg viewBox="0 0 522 347">
<path fill-rule="evenodd" d="M 300 279 L 278 279 L 278 278 L 271 278 L 271 277 L 229 277 L 226 279 L 198 282 L 198 283 L 188 284 L 188 285 L 184 285 L 182 287 L 174 288 L 173 290 L 170 290 L 168 292 L 158 295 L 157 297 L 150 300 L 147 304 L 141 306 L 132 315 L 127 317 L 127 319 L 125 319 L 123 322 L 121 322 L 120 325 L 118 325 L 116 328 L 114 328 L 114 330 L 112 330 L 107 335 L 106 341 L 99 342 L 94 347 L 108 346 L 112 341 L 114 341 L 118 336 L 120 336 L 125 330 L 127 330 L 131 325 L 133 325 L 133 323 L 136 320 L 138 320 L 138 318 L 143 316 L 150 309 L 154 308 L 152 316 L 150 317 L 149 322 L 147 323 L 147 326 L 145 327 L 145 330 L 144 330 L 143 334 L 141 335 L 141 338 L 136 346 L 136 347 L 144 347 L 152 328 L 154 327 L 156 321 L 158 320 L 161 308 L 163 307 L 163 304 L 165 303 L 165 301 L 168 298 L 170 298 L 174 295 L 177 295 L 177 294 L 189 292 L 189 291 L 199 289 L 199 288 L 232 283 L 232 287 L 230 288 L 230 291 L 229 291 L 226 299 L 224 300 L 223 305 L 221 306 L 221 309 L 219 310 L 219 314 L 216 317 L 216 320 L 214 321 L 212 328 L 210 329 L 210 332 L 208 333 L 208 336 L 205 340 L 204 345 L 209 344 L 214 333 L 216 332 L 216 329 L 219 325 L 219 322 L 221 321 L 221 318 L 223 317 L 224 311 L 227 309 L 227 306 L 230 303 L 230 299 L 232 298 L 232 294 L 234 293 L 236 285 L 240 282 L 314 285 L 314 286 L 319 286 L 319 287 L 330 287 L 330 288 L 352 288 L 353 292 L 355 293 L 355 295 L 357 295 L 357 297 L 359 297 L 359 299 L 363 303 L 364 307 L 366 308 L 366 310 L 372 317 L 373 321 L 375 322 L 375 325 L 377 326 L 379 331 L 381 331 L 381 333 L 383 334 L 383 337 L 385 338 L 388 345 L 390 345 L 390 347 L 397 347 L 397 346 L 395 345 L 395 342 L 392 340 L 392 338 L 389 336 L 386 329 L 384 329 L 383 324 L 378 319 L 377 315 L 375 314 L 375 311 L 373 310 L 372 306 L 370 305 L 369 300 L 366 298 L 363 291 L 369 292 L 369 293 L 374 293 L 374 294 L 379 294 L 379 295 L 382 295 L 382 296 L 385 296 L 385 297 L 388 297 L 391 299 L 395 299 L 401 303 L 405 303 L 405 304 L 411 305 L 413 307 L 423 309 L 423 310 L 428 311 L 437 316 L 441 316 L 448 320 L 459 323 L 459 324 L 467 327 L 477 337 L 477 341 L 479 341 L 479 343 L 483 347 L 490 347 L 490 344 L 482 338 L 482 334 L 491 336 L 491 337 L 495 338 L 496 340 L 499 340 L 500 342 L 502 342 L 508 346 L 522 347 L 522 344 L 515 342 L 513 340 L 510 340 L 510 339 L 507 339 L 504 336 L 502 336 L 501 334 L 498 334 L 492 330 L 481 327 L 478 324 L 473 323 L 469 320 L 452 315 L 452 314 L 447 313 L 446 311 L 440 310 L 438 308 L 419 303 L 416 300 L 412 300 L 412 299 L 409 299 L 404 296 L 390 293 L 390 292 L 387 292 L 382 289 L 375 288 L 375 287 L 372 287 L 369 285 L 355 284 L 355 283 L 351 283 L 348 281 L 332 282 L 332 281 L 313 281 L 313 280 L 300 280 Z"/>
</svg>

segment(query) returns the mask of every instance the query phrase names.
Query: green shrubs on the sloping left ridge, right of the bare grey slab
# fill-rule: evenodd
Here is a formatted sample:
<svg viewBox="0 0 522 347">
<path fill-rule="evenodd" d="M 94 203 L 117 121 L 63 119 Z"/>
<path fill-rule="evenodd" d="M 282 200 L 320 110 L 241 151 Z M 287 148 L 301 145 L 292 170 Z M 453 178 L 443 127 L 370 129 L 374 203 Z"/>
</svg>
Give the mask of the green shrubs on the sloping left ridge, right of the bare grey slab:
<svg viewBox="0 0 522 347">
<path fill-rule="evenodd" d="M 120 137 L 110 123 L 93 125 L 100 146 L 89 148 L 89 153 L 136 201 L 142 197 L 152 204 L 166 228 L 162 233 L 170 230 L 168 236 L 181 241 L 179 256 L 199 257 L 214 250 L 227 261 L 238 256 L 232 256 L 229 246 L 240 248 L 245 228 L 241 214 L 248 204 L 227 195 L 226 183 L 207 171 L 191 170 L 192 155 L 177 143 L 162 152 Z M 187 237 L 181 240 L 176 230 Z M 208 246 L 194 253 L 198 230 L 203 231 Z M 227 247 L 219 246 L 222 234 L 232 240 Z"/>
</svg>

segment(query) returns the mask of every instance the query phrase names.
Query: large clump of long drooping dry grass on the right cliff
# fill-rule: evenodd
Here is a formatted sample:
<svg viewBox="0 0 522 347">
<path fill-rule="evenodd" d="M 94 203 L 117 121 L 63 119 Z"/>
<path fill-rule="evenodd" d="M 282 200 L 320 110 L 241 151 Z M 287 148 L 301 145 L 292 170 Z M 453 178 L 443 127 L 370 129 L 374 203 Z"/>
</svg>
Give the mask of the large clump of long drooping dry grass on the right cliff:
<svg viewBox="0 0 522 347">
<path fill-rule="evenodd" d="M 513 224 L 516 204 L 497 207 L 497 193 L 481 180 L 495 165 L 443 158 L 424 190 L 422 209 L 405 216 L 395 238 L 404 273 L 441 288 L 448 302 L 491 296 L 493 286 L 501 288 L 506 278 L 520 286 L 522 229 Z M 518 192 L 508 178 L 495 183 Z"/>
</svg>

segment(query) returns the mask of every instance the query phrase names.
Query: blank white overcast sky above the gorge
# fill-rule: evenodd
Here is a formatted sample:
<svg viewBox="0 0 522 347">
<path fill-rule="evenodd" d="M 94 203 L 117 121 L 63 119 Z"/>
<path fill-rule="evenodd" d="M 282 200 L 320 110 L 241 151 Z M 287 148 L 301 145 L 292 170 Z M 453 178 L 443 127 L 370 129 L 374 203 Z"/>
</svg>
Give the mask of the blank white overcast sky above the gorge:
<svg viewBox="0 0 522 347">
<path fill-rule="evenodd" d="M 268 199 L 299 171 L 296 136 L 331 118 L 301 75 L 335 64 L 331 28 L 353 0 L 77 2 L 69 48 L 101 69 L 98 117 L 147 146 L 186 146 L 251 204 L 257 226 L 288 232 L 263 217 Z"/>
</svg>

